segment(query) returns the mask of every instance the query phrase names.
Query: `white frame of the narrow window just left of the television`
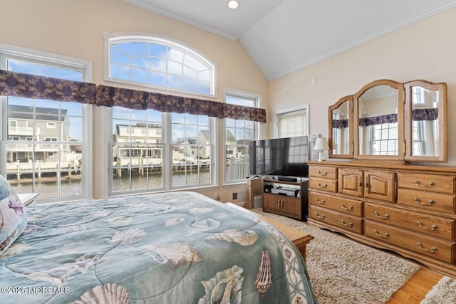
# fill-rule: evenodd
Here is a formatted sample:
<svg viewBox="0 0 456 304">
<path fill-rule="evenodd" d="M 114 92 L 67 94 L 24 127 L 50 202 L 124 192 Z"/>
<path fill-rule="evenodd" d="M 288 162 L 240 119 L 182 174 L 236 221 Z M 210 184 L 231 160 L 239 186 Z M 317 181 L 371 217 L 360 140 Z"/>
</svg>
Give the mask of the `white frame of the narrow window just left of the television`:
<svg viewBox="0 0 456 304">
<path fill-rule="evenodd" d="M 247 99 L 252 99 L 255 100 L 254 103 L 254 108 L 261 108 L 261 95 L 255 94 L 255 93 L 249 93 L 249 92 L 244 92 L 240 90 L 233 90 L 233 89 L 225 89 L 224 90 L 224 102 L 227 103 L 227 96 L 232 96 L 234 98 L 247 98 Z M 222 145 L 219 145 L 219 147 L 223 148 L 223 169 L 220 169 L 223 172 L 223 185 L 239 185 L 239 184 L 245 184 L 245 179 L 237 179 L 234 181 L 228 181 L 227 180 L 227 121 L 226 119 L 223 119 L 223 142 Z M 254 140 L 259 140 L 260 135 L 261 135 L 261 123 L 259 122 L 254 122 L 255 125 L 255 134 L 254 134 Z M 235 135 L 234 135 L 235 136 Z M 220 144 L 220 142 L 218 142 Z M 233 153 L 229 153 L 233 154 Z M 249 160 L 250 163 L 250 160 Z"/>
</svg>

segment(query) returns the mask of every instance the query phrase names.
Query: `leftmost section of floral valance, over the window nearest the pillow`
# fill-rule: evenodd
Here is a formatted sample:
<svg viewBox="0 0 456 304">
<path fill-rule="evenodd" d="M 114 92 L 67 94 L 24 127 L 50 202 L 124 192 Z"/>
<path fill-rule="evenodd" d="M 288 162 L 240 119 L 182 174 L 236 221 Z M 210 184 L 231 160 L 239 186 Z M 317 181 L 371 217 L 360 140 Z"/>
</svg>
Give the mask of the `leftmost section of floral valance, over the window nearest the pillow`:
<svg viewBox="0 0 456 304">
<path fill-rule="evenodd" d="M 0 70 L 0 95 L 95 103 L 95 84 Z"/>
</svg>

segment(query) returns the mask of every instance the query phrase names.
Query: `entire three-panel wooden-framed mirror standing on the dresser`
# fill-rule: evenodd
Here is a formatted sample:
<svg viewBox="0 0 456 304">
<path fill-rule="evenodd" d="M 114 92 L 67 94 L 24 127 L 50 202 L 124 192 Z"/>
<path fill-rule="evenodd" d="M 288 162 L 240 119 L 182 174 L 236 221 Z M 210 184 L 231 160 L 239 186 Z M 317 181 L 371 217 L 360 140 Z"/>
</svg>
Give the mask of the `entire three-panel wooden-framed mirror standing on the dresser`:
<svg viewBox="0 0 456 304">
<path fill-rule="evenodd" d="M 328 109 L 331 158 L 447 161 L 445 83 L 375 80 Z"/>
</svg>

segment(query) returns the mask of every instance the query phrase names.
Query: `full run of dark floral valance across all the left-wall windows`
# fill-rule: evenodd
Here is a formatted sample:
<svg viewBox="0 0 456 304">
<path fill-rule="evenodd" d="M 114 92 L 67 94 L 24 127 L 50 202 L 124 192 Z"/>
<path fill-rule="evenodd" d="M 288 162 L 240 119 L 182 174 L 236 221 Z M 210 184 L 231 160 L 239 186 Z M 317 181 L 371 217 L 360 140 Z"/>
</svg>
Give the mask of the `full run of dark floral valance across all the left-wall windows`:
<svg viewBox="0 0 456 304">
<path fill-rule="evenodd" d="M 0 95 L 266 122 L 266 110 L 0 70 Z"/>
</svg>

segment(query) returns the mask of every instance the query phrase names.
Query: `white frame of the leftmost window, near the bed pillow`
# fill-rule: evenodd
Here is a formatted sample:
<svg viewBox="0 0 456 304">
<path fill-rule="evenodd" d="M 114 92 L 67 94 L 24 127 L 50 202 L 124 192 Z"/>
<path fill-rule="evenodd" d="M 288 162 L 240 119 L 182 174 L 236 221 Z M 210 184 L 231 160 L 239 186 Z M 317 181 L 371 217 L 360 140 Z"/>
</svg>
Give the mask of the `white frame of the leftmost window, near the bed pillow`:
<svg viewBox="0 0 456 304">
<path fill-rule="evenodd" d="M 48 53 L 44 51 L 37 51 L 31 48 L 22 48 L 19 46 L 12 46 L 6 43 L 0 43 L 0 68 L 6 69 L 6 61 L 8 59 L 16 59 L 19 61 L 27 61 L 30 63 L 38 63 L 43 65 L 51 65 L 58 68 L 67 68 L 71 70 L 81 71 L 83 81 L 91 83 L 93 81 L 93 63 L 81 58 L 73 58 L 69 56 L 62 56 L 56 53 Z M 0 174 L 6 176 L 6 140 L 8 137 L 8 119 L 6 115 L 7 97 L 0 96 Z M 48 203 L 54 201 L 74 201 L 77 199 L 91 199 L 93 198 L 93 169 L 92 169 L 92 137 L 93 137 L 93 107 L 92 105 L 82 105 L 82 119 L 83 119 L 83 177 L 81 180 L 82 193 L 79 196 L 63 196 L 51 199 L 36 199 L 38 203 Z"/>
</svg>

